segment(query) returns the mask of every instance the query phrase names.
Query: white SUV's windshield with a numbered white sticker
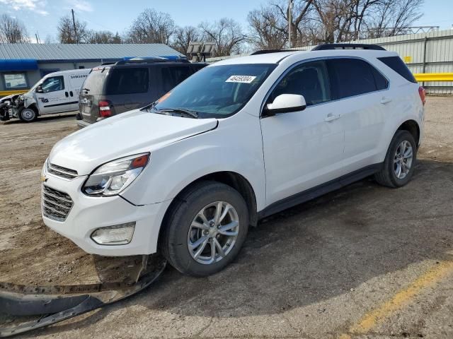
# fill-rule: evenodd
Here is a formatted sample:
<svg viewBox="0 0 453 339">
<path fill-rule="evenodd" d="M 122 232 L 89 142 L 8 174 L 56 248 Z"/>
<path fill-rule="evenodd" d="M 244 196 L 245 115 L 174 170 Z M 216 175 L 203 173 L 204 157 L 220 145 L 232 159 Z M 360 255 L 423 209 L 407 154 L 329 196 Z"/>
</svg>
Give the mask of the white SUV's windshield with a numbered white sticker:
<svg viewBox="0 0 453 339">
<path fill-rule="evenodd" d="M 206 67 L 157 101 L 157 111 L 185 109 L 198 117 L 229 117 L 239 112 L 258 90 L 275 64 Z"/>
</svg>

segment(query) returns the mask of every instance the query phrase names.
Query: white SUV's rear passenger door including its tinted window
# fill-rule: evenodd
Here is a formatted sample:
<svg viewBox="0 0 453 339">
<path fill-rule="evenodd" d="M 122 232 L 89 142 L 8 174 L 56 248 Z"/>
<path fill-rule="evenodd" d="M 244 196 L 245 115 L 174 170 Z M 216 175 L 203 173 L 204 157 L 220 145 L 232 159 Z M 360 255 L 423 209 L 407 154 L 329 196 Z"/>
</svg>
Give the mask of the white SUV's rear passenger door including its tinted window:
<svg viewBox="0 0 453 339">
<path fill-rule="evenodd" d="M 377 163 L 379 141 L 389 112 L 388 81 L 367 61 L 328 59 L 336 112 L 345 131 L 345 172 Z"/>
</svg>

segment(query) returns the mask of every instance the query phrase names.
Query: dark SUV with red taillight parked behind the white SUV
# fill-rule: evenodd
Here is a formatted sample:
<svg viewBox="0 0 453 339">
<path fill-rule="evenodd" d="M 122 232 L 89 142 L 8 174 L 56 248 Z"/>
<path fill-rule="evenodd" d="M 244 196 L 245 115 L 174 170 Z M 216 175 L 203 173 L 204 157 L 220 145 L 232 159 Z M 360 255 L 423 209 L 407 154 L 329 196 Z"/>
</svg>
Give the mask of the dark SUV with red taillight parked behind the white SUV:
<svg viewBox="0 0 453 339">
<path fill-rule="evenodd" d="M 91 70 L 79 97 L 79 127 L 151 104 L 207 64 L 130 59 Z"/>
</svg>

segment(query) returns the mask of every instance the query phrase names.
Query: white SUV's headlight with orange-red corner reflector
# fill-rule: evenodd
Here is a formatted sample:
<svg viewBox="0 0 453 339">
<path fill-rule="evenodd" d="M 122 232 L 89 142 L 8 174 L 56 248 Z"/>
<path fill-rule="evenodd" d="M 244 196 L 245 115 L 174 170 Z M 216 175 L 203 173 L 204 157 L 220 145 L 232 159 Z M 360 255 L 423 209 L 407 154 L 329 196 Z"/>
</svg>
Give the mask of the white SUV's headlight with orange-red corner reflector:
<svg viewBox="0 0 453 339">
<path fill-rule="evenodd" d="M 122 157 L 98 167 L 86 180 L 82 191 L 89 196 L 114 196 L 137 179 L 148 165 L 149 153 Z"/>
</svg>

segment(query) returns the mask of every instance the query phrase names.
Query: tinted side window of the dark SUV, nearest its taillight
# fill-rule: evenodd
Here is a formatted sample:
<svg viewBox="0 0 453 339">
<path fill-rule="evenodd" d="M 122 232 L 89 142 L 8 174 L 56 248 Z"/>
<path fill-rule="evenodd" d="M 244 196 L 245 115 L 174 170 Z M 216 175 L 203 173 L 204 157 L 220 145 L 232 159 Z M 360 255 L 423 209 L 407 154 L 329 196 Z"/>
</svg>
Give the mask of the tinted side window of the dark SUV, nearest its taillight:
<svg viewBox="0 0 453 339">
<path fill-rule="evenodd" d="M 148 88 L 149 71 L 147 68 L 111 69 L 105 94 L 147 93 Z"/>
</svg>

